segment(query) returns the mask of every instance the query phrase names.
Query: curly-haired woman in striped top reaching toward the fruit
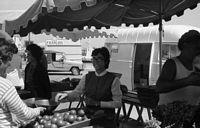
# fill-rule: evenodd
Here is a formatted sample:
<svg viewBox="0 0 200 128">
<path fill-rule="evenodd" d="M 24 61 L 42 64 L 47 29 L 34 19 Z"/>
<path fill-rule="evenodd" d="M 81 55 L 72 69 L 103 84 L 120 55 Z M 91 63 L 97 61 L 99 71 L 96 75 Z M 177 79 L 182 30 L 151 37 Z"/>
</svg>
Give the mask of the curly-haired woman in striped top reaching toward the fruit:
<svg viewBox="0 0 200 128">
<path fill-rule="evenodd" d="M 0 128 L 17 128 L 12 114 L 19 120 L 30 120 L 40 115 L 45 108 L 29 108 L 20 99 L 14 85 L 7 79 L 6 69 L 12 59 L 11 37 L 0 30 Z"/>
</svg>

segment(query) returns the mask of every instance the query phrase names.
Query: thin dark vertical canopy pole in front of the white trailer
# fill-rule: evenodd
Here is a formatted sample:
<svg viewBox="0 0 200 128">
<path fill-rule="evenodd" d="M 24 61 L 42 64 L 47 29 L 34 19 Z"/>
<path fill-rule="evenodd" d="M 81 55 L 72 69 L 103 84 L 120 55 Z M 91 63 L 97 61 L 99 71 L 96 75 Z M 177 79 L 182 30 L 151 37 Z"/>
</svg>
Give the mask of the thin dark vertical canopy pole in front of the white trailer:
<svg viewBox="0 0 200 128">
<path fill-rule="evenodd" d="M 162 70 L 162 35 L 163 35 L 163 26 L 162 26 L 162 0 L 160 0 L 160 12 L 159 12 L 159 73 L 161 74 Z"/>
</svg>

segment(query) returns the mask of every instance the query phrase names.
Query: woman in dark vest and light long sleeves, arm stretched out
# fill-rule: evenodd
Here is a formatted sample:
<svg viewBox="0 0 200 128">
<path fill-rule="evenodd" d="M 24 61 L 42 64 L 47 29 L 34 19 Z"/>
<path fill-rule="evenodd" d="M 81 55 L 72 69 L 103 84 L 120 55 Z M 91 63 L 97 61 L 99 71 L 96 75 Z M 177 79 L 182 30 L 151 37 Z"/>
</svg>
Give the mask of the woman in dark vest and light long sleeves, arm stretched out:
<svg viewBox="0 0 200 128">
<path fill-rule="evenodd" d="M 100 116 L 100 118 L 91 121 L 91 125 L 116 128 L 115 108 L 121 107 L 122 92 L 119 78 L 106 71 L 109 63 L 108 49 L 105 47 L 95 49 L 92 52 L 92 64 L 95 71 L 83 76 L 71 93 L 58 94 L 56 99 L 57 101 L 74 100 L 84 94 L 86 114 L 93 117 Z"/>
</svg>

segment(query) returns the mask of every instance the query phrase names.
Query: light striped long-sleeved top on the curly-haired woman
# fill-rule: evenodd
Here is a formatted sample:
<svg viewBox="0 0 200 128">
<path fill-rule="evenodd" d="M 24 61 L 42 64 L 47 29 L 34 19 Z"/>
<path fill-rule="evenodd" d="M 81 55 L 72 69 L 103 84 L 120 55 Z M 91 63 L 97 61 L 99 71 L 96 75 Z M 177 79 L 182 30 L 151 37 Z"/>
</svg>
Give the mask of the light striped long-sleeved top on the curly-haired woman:
<svg viewBox="0 0 200 128">
<path fill-rule="evenodd" d="M 11 113 L 20 120 L 30 120 L 39 115 L 40 110 L 27 107 L 12 83 L 0 77 L 0 128 L 15 127 Z"/>
</svg>

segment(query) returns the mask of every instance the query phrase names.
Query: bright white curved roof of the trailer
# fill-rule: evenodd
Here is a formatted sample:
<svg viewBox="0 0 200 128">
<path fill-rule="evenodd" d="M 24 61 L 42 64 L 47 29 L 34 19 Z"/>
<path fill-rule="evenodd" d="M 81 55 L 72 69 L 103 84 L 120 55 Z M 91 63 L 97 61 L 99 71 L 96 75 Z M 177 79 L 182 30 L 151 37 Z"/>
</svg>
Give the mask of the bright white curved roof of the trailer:
<svg viewBox="0 0 200 128">
<path fill-rule="evenodd" d="M 163 26 L 163 43 L 177 43 L 179 38 L 191 29 L 200 32 L 200 28 L 193 26 L 165 25 Z M 158 26 L 119 29 L 116 36 L 117 42 L 120 43 L 159 42 Z"/>
</svg>

